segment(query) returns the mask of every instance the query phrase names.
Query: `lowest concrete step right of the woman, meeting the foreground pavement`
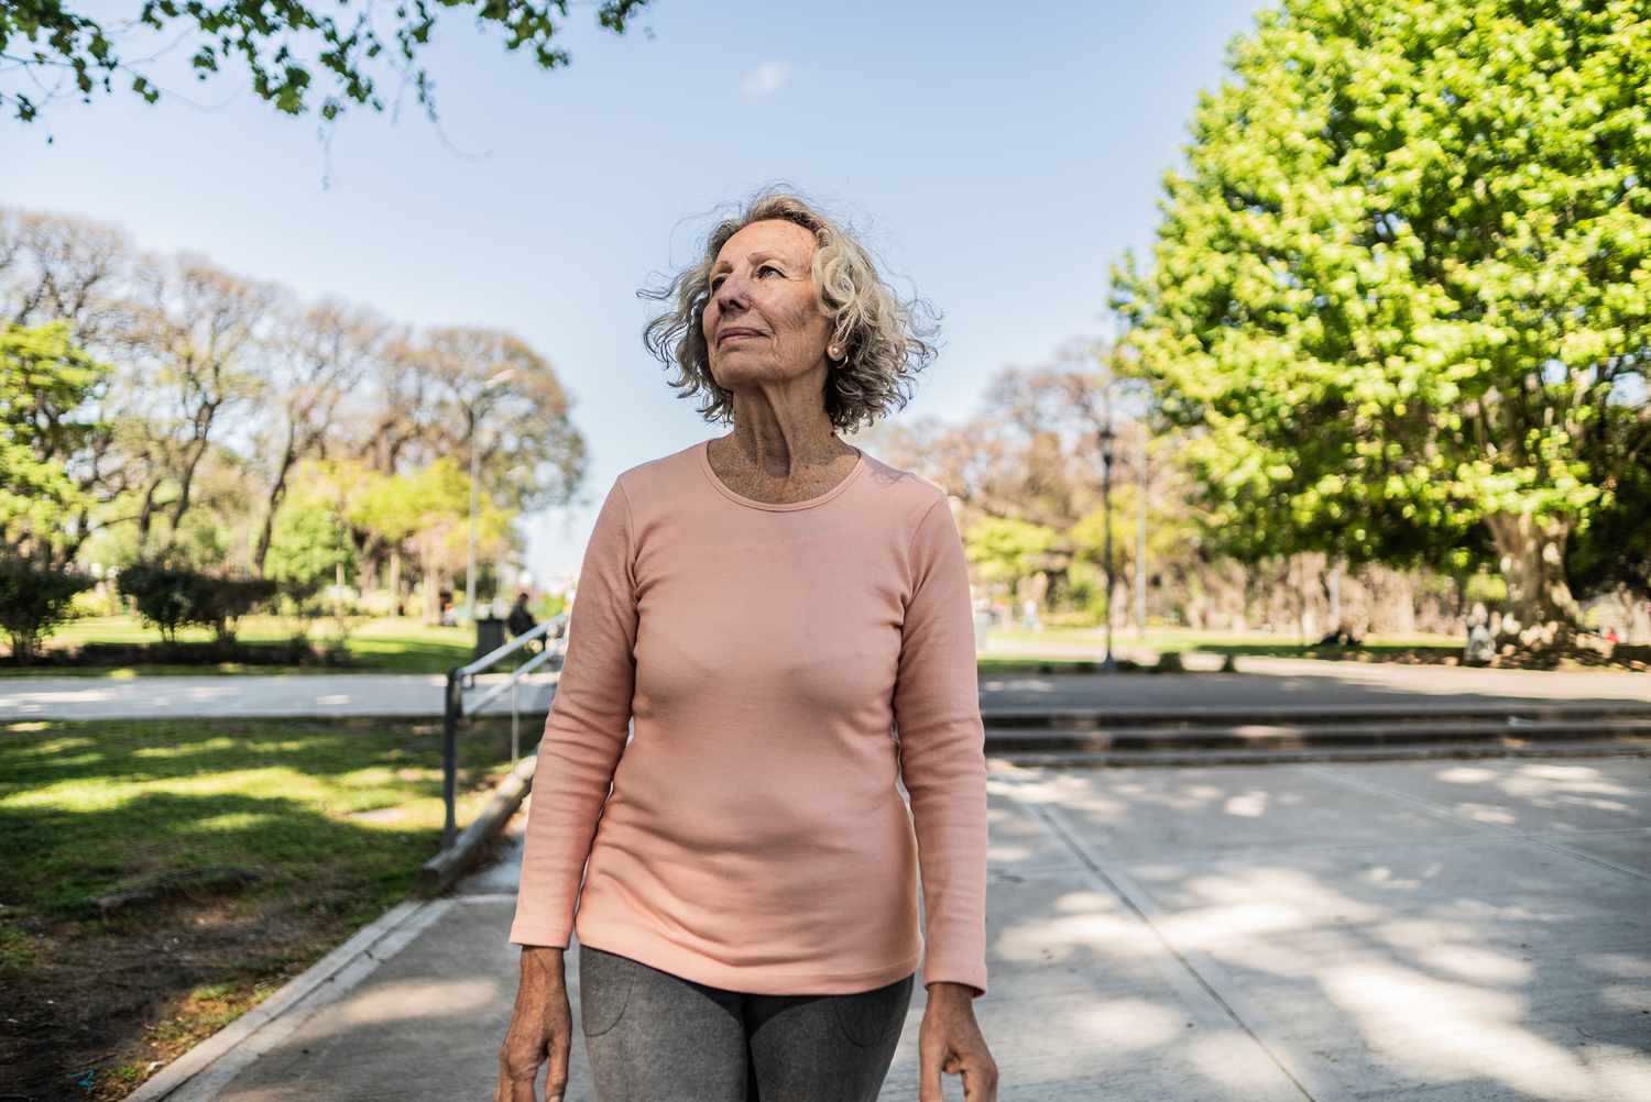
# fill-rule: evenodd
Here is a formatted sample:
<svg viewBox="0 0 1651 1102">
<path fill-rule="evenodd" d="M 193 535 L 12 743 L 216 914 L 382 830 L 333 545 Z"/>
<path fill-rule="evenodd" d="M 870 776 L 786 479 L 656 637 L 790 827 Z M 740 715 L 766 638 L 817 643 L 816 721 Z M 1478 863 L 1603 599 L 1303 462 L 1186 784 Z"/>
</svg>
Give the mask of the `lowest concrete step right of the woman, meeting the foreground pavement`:
<svg viewBox="0 0 1651 1102">
<path fill-rule="evenodd" d="M 1106 769 L 1124 765 L 1270 765 L 1291 762 L 1379 762 L 1473 757 L 1651 757 L 1651 737 L 1522 742 L 1519 739 L 1433 742 L 1415 746 L 1306 746 L 1278 749 L 1185 751 L 994 751 L 994 762 L 1048 769 Z"/>
</svg>

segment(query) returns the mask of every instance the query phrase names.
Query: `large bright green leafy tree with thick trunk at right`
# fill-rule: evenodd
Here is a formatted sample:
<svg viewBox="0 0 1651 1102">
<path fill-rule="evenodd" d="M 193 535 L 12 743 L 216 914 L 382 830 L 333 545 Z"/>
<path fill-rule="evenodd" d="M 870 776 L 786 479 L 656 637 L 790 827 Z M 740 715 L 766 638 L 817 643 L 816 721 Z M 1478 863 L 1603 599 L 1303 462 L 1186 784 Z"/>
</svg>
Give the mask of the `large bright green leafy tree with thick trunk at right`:
<svg viewBox="0 0 1651 1102">
<path fill-rule="evenodd" d="M 1651 459 L 1646 5 L 1284 0 L 1228 63 L 1113 271 L 1228 549 L 1489 561 L 1575 622 L 1568 544 Z"/>
</svg>

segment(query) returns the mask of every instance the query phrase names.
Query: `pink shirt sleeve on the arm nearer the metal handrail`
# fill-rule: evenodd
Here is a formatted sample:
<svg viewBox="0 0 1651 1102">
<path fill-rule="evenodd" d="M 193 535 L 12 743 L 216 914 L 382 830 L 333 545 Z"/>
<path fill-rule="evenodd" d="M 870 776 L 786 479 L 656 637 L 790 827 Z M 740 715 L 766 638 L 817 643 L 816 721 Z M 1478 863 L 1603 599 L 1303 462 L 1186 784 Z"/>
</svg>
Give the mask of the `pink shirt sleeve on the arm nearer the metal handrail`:
<svg viewBox="0 0 1651 1102">
<path fill-rule="evenodd" d="M 510 940 L 566 949 L 596 820 L 631 729 L 636 690 L 631 503 L 614 480 L 584 548 L 568 648 L 533 769 Z"/>
</svg>

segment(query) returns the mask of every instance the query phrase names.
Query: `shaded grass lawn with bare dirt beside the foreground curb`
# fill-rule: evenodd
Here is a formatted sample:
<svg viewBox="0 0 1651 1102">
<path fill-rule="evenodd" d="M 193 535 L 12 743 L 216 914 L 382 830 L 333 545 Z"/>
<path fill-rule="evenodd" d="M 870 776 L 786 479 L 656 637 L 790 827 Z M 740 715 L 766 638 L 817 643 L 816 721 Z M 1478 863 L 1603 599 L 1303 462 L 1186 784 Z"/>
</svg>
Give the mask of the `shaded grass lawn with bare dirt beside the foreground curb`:
<svg viewBox="0 0 1651 1102">
<path fill-rule="evenodd" d="M 509 718 L 462 731 L 461 825 L 509 746 Z M 125 1097 L 408 896 L 441 823 L 439 723 L 0 726 L 0 1067 Z"/>
</svg>

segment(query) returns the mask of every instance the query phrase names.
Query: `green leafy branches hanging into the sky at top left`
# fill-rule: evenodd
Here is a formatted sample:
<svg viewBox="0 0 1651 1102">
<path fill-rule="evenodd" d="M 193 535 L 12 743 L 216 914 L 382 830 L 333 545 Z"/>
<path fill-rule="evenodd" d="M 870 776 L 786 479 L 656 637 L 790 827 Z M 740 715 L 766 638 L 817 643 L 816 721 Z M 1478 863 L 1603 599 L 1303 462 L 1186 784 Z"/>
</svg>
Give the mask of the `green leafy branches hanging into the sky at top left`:
<svg viewBox="0 0 1651 1102">
<path fill-rule="evenodd" d="M 622 35 L 631 16 L 646 5 L 647 0 L 601 0 L 596 20 Z M 383 66 L 391 64 L 403 79 L 411 79 L 418 101 L 434 120 L 434 82 L 418 56 L 429 45 L 438 12 L 474 8 L 477 28 L 492 25 L 504 31 L 505 49 L 527 46 L 540 68 L 556 69 L 571 61 L 556 38 L 568 7 L 568 0 L 403 0 L 388 8 L 368 3 L 340 23 L 327 7 L 312 3 L 145 0 L 135 20 L 106 28 L 61 0 L 10 0 L 0 5 L 0 59 L 7 69 L 30 78 L 30 89 L 51 87 L 54 81 L 48 76 L 69 71 L 81 101 L 91 102 L 97 87 L 112 91 L 121 74 L 130 78 L 134 92 L 155 102 L 160 89 L 122 59 L 122 46 L 134 33 L 152 30 L 178 40 L 182 30 L 195 41 L 190 66 L 198 81 L 206 81 L 221 66 L 244 63 L 253 91 L 289 115 L 309 109 L 317 73 L 332 84 L 320 106 L 329 124 L 350 102 L 383 111 L 378 78 Z M 385 36 L 380 21 L 388 23 Z M 7 104 L 20 122 L 33 122 L 40 114 L 40 102 L 23 91 L 0 91 L 0 106 Z"/>
</svg>

